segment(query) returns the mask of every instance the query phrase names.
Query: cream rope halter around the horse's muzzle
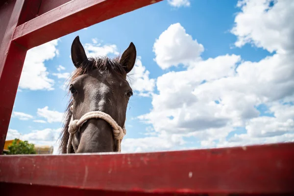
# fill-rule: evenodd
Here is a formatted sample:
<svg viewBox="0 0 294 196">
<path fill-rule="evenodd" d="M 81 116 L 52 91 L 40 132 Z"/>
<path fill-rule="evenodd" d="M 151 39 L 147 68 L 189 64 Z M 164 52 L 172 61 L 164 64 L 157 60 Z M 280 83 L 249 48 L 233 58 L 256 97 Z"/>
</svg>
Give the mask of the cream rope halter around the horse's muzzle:
<svg viewBox="0 0 294 196">
<path fill-rule="evenodd" d="M 73 112 L 73 105 L 71 106 L 71 111 Z M 123 137 L 126 134 L 125 126 L 123 125 L 123 128 L 118 125 L 118 123 L 111 118 L 108 114 L 100 111 L 93 111 L 93 112 L 88 112 L 84 114 L 79 120 L 73 120 L 73 115 L 72 119 L 69 124 L 69 133 L 70 133 L 70 138 L 68 141 L 67 145 L 67 153 L 70 153 L 71 151 L 71 145 L 73 145 L 73 135 L 79 130 L 79 128 L 83 125 L 83 123 L 86 123 L 89 119 L 103 119 L 107 123 L 109 123 L 112 126 L 114 138 L 117 140 L 117 151 L 121 152 L 121 143 L 123 140 Z M 73 145 L 73 150 L 76 152 L 76 149 Z"/>
</svg>

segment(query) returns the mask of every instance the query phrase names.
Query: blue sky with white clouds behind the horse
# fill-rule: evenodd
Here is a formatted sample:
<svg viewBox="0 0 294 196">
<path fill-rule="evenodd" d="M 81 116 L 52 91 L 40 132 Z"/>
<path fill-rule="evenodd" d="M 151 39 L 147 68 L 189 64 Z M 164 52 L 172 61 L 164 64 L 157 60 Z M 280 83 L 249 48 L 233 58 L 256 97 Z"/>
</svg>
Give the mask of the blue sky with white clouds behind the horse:
<svg viewBox="0 0 294 196">
<path fill-rule="evenodd" d="M 79 35 L 91 54 L 136 46 L 123 151 L 293 141 L 294 3 L 244 2 L 165 0 L 31 49 L 7 139 L 56 148 Z"/>
</svg>

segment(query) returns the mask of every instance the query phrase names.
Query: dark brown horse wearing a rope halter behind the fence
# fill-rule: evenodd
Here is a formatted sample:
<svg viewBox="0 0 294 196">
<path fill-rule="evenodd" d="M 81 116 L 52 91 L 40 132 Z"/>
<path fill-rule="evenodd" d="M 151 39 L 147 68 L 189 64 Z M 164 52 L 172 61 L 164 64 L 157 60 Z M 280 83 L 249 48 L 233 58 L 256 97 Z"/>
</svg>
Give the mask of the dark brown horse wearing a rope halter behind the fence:
<svg viewBox="0 0 294 196">
<path fill-rule="evenodd" d="M 117 137 L 125 134 L 121 127 L 133 95 L 126 78 L 136 55 L 131 42 L 121 58 L 87 57 L 79 36 L 74 38 L 71 58 L 76 69 L 69 78 L 70 99 L 60 134 L 61 153 L 120 151 L 122 138 Z"/>
</svg>

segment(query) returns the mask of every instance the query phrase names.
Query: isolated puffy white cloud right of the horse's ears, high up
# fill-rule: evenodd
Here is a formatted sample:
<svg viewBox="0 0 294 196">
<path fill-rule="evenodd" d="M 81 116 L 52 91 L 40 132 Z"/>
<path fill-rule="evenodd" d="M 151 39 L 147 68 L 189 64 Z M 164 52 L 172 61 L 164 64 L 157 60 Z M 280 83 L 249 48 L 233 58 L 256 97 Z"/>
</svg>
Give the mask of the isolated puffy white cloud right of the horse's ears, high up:
<svg viewBox="0 0 294 196">
<path fill-rule="evenodd" d="M 168 69 L 179 64 L 188 66 L 191 62 L 200 60 L 204 47 L 193 40 L 181 24 L 176 23 L 170 25 L 155 40 L 153 51 L 156 56 L 154 60 L 159 67 Z"/>
</svg>

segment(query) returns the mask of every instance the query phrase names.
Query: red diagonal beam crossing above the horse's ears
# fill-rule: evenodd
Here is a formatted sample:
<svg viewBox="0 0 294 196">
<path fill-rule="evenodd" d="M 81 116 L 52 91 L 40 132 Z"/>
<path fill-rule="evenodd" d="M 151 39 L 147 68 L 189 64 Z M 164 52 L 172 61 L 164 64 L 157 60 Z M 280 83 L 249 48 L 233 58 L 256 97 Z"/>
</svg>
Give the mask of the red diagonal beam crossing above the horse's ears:
<svg viewBox="0 0 294 196">
<path fill-rule="evenodd" d="M 27 49 L 162 0 L 72 0 L 16 28 Z"/>
</svg>

